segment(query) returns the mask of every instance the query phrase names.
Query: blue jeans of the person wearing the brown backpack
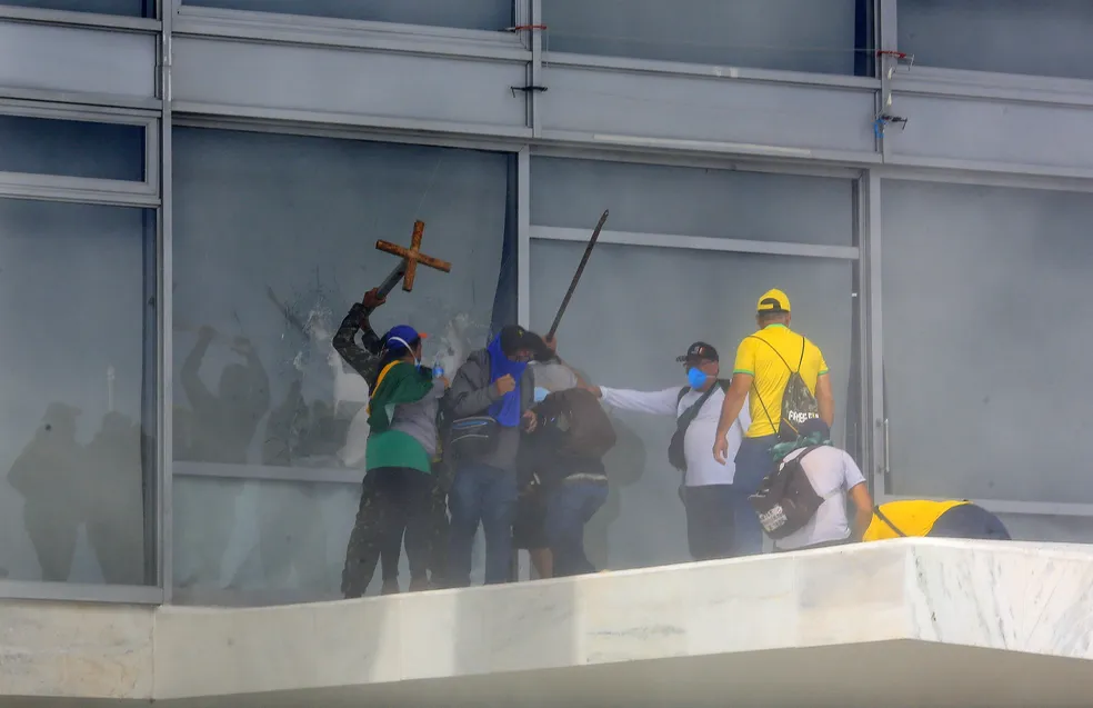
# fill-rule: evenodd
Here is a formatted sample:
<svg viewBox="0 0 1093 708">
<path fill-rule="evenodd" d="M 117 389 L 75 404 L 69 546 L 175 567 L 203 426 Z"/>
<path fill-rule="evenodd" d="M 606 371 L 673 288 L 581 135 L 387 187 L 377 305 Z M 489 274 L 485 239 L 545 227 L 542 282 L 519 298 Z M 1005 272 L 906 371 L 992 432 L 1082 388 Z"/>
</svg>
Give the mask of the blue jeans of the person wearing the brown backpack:
<svg viewBox="0 0 1093 708">
<path fill-rule="evenodd" d="M 608 500 L 606 483 L 562 482 L 546 499 L 546 544 L 553 556 L 555 578 L 595 572 L 584 552 L 584 525 Z"/>
</svg>

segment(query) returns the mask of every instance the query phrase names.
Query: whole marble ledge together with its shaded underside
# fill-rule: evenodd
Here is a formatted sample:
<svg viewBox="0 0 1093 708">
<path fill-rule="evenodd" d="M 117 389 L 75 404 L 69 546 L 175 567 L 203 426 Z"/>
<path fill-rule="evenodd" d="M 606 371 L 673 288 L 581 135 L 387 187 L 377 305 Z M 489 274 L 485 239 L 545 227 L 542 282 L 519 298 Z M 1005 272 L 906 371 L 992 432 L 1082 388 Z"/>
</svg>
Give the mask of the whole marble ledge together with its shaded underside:
<svg viewBox="0 0 1093 708">
<path fill-rule="evenodd" d="M 900 539 L 270 608 L 0 604 L 0 706 L 1089 706 L 1091 588 L 1085 547 Z"/>
</svg>

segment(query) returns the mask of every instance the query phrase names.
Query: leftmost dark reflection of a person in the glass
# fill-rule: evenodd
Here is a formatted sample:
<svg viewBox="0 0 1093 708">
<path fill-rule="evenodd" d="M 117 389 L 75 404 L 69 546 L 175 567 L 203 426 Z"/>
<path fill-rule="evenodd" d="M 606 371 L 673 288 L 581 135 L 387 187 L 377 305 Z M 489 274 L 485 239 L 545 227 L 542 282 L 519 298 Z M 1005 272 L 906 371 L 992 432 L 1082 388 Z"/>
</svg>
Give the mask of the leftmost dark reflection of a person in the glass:
<svg viewBox="0 0 1093 708">
<path fill-rule="evenodd" d="M 80 412 L 68 403 L 50 403 L 34 437 L 8 471 L 8 481 L 23 498 L 23 528 L 38 556 L 41 579 L 47 581 L 68 580 L 83 521 L 77 483 L 82 446 L 76 441 L 76 417 Z"/>
</svg>

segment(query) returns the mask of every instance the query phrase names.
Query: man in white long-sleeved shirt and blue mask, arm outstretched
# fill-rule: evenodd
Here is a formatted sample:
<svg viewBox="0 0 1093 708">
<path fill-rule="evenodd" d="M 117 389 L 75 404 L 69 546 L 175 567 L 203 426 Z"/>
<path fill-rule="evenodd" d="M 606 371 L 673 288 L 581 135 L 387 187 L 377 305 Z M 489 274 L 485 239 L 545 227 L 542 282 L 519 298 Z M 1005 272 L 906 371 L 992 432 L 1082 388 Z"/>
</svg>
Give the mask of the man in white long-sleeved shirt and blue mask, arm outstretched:
<svg viewBox="0 0 1093 708">
<path fill-rule="evenodd" d="M 711 459 L 709 447 L 718 436 L 718 420 L 728 381 L 721 372 L 718 350 L 696 341 L 676 359 L 683 365 L 688 386 L 661 391 L 634 391 L 592 387 L 603 402 L 620 410 L 674 416 L 676 431 L 669 460 L 683 472 L 682 498 L 686 507 L 688 548 L 695 560 L 736 555 L 732 483 L 733 456 L 724 462 Z M 735 451 L 751 419 L 745 407 L 725 440 Z"/>
</svg>

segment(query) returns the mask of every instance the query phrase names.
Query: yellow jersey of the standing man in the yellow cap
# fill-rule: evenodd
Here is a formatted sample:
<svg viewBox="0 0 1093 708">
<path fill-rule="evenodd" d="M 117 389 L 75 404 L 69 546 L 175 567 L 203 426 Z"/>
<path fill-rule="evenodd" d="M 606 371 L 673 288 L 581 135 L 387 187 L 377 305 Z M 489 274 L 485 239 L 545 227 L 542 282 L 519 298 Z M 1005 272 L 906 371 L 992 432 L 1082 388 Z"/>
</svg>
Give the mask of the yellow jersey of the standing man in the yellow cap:
<svg viewBox="0 0 1093 708">
<path fill-rule="evenodd" d="M 754 378 L 748 397 L 752 422 L 744 433 L 746 437 L 761 438 L 778 432 L 782 420 L 782 393 L 790 382 L 790 375 L 798 370 L 799 361 L 801 378 L 809 392 L 815 396 L 816 380 L 828 372 L 828 362 L 820 348 L 806 337 L 791 331 L 785 325 L 769 325 L 740 342 L 732 372 Z"/>
</svg>

